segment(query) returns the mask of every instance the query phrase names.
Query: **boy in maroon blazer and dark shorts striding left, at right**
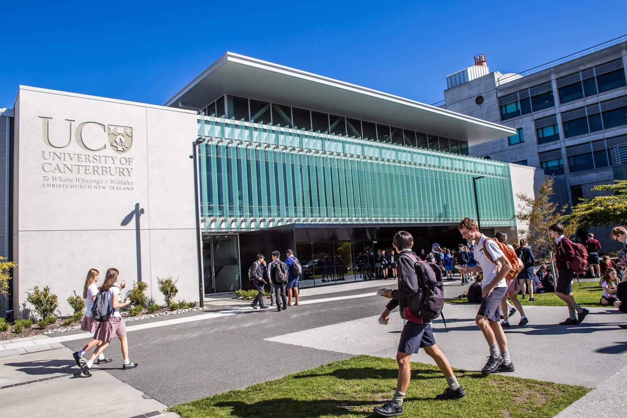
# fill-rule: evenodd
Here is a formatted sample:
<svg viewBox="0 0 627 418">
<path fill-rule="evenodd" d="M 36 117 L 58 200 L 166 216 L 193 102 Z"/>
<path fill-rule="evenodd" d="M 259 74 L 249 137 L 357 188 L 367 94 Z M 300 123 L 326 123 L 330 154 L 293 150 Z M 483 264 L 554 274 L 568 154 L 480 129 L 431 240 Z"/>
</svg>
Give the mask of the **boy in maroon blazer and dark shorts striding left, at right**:
<svg viewBox="0 0 627 418">
<path fill-rule="evenodd" d="M 590 313 L 587 309 L 581 308 L 572 297 L 572 278 L 574 273 L 569 267 L 569 262 L 575 257 L 575 250 L 572 248 L 571 240 L 564 237 L 564 225 L 554 223 L 549 227 L 551 237 L 555 238 L 555 257 L 551 260 L 557 267 L 557 286 L 555 294 L 566 302 L 568 306 L 568 318 L 560 325 L 576 325 L 586 318 Z M 575 316 L 577 313 L 577 316 Z"/>
</svg>

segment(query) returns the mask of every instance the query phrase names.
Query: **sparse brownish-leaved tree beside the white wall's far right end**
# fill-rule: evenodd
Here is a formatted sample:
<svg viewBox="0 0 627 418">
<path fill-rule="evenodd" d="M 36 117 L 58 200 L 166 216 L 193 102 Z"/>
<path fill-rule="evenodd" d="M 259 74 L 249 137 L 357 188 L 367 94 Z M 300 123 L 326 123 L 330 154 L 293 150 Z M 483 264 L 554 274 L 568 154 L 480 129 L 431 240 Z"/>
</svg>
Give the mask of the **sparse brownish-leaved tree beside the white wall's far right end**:
<svg viewBox="0 0 627 418">
<path fill-rule="evenodd" d="M 524 193 L 516 195 L 522 201 L 516 218 L 529 225 L 526 230 L 519 230 L 519 238 L 525 238 L 534 250 L 552 252 L 555 240 L 549 233 L 549 226 L 552 223 L 563 222 L 564 213 L 568 209 L 568 205 L 558 205 L 552 200 L 553 183 L 554 178 L 546 176 L 535 198 Z M 564 235 L 571 237 L 576 232 L 576 220 L 571 219 L 564 223 Z"/>
</svg>

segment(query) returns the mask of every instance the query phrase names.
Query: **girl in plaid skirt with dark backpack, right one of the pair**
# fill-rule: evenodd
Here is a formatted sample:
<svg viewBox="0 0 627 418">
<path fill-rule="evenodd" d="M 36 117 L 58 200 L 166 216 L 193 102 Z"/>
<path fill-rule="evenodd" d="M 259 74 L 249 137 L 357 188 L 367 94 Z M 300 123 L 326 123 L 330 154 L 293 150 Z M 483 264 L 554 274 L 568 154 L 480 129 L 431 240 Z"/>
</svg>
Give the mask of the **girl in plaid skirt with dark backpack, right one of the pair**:
<svg viewBox="0 0 627 418">
<path fill-rule="evenodd" d="M 120 287 L 116 286 L 115 283 L 117 282 L 119 275 L 120 272 L 118 269 L 108 269 L 105 282 L 102 286 L 100 286 L 99 293 L 106 292 L 105 299 L 107 301 L 107 312 L 110 314 L 107 321 L 98 323 L 96 331 L 93 335 L 93 339 L 98 341 L 98 346 L 92 353 L 92 356 L 90 356 L 87 363 L 81 366 L 83 375 L 87 377 L 92 375 L 90 369 L 92 368 L 93 361 L 96 360 L 98 355 L 100 355 L 100 353 L 108 347 L 113 336 L 117 336 L 117 338 L 120 339 L 122 358 L 124 358 L 122 370 L 137 367 L 137 363 L 131 363 L 129 360 L 129 341 L 127 341 L 126 338 L 126 323 L 124 318 L 122 318 L 122 315 L 120 315 L 120 308 L 124 308 L 130 304 L 130 297 L 127 297 L 124 303 L 120 303 L 120 289 L 124 289 L 126 282 L 122 281 Z"/>
</svg>

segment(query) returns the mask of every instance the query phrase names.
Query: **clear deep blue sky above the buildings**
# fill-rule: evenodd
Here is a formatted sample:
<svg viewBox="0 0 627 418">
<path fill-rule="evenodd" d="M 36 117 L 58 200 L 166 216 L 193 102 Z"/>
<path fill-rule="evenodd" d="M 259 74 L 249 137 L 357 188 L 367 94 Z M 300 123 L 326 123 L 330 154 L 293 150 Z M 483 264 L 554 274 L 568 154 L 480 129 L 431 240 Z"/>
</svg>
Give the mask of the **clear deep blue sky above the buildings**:
<svg viewBox="0 0 627 418">
<path fill-rule="evenodd" d="M 0 107 L 20 84 L 164 104 L 225 51 L 431 104 L 477 53 L 520 72 L 627 34 L 624 1 L 90 3 L 3 4 Z"/>
</svg>

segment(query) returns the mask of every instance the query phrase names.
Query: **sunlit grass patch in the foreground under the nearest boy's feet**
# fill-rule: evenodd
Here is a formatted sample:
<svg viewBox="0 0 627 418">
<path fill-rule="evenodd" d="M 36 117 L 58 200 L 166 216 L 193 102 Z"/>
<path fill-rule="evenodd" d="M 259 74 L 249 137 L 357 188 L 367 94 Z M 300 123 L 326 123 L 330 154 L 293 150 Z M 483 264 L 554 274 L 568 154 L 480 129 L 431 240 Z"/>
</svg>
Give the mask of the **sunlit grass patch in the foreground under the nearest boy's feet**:
<svg viewBox="0 0 627 418">
<path fill-rule="evenodd" d="M 590 389 L 501 375 L 456 371 L 466 391 L 435 400 L 446 388 L 436 366 L 411 363 L 404 417 L 552 417 Z M 183 418 L 372 417 L 396 389 L 396 360 L 366 355 L 170 408 Z"/>
</svg>

